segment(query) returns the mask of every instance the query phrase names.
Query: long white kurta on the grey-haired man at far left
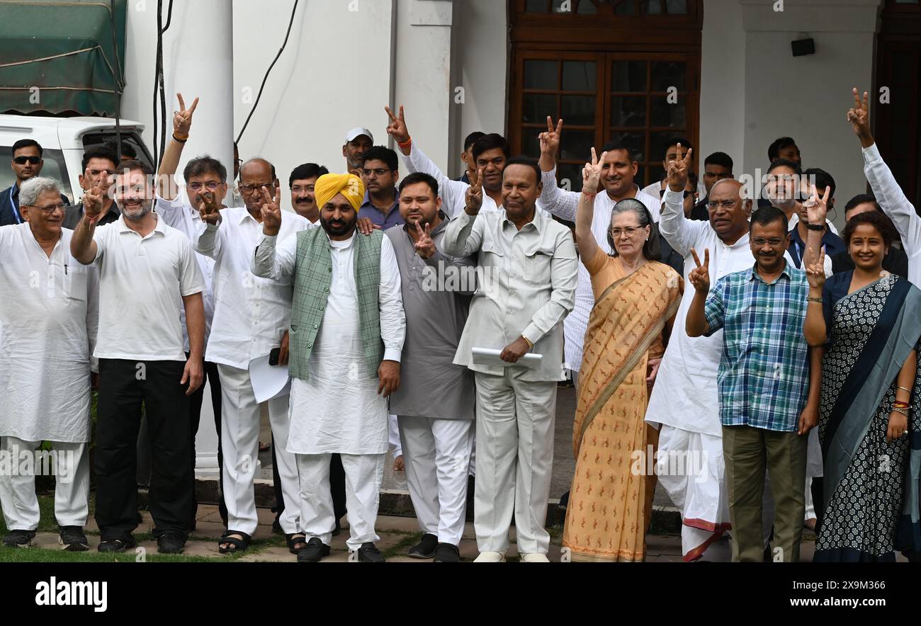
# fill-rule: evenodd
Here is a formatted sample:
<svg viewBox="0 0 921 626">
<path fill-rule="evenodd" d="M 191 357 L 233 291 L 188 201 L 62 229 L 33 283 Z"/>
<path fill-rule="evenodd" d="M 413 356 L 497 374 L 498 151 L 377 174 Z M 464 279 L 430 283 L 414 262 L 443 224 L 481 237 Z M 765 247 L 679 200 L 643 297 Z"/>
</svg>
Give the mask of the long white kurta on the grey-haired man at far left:
<svg viewBox="0 0 921 626">
<path fill-rule="evenodd" d="M 0 436 L 89 441 L 99 279 L 61 230 L 49 257 L 28 223 L 0 228 Z"/>
</svg>

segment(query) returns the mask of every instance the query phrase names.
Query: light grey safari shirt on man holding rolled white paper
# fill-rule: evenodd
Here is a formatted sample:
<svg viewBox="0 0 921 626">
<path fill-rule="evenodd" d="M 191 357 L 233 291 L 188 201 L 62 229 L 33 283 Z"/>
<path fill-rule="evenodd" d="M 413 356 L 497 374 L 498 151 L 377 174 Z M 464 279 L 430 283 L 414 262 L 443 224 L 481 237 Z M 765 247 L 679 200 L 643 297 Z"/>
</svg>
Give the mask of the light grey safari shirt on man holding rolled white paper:
<svg viewBox="0 0 921 626">
<path fill-rule="evenodd" d="M 473 364 L 472 349 L 502 350 L 524 335 L 543 360 L 540 369 L 509 365 L 524 370 L 516 376 L 530 382 L 562 380 L 561 322 L 575 306 L 578 271 L 569 229 L 536 209 L 521 230 L 505 209 L 475 217 L 461 211 L 445 229 L 443 246 L 455 257 L 480 253 L 479 285 L 454 363 L 503 376 L 505 367 Z"/>
</svg>

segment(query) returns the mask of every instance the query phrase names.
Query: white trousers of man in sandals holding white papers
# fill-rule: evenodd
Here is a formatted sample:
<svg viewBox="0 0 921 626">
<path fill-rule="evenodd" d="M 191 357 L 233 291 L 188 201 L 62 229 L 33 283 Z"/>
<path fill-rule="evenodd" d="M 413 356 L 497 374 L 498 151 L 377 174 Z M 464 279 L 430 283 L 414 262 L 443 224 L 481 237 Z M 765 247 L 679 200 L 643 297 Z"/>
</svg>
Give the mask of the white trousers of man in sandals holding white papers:
<svg viewBox="0 0 921 626">
<path fill-rule="evenodd" d="M 221 447 L 224 452 L 224 504 L 227 529 L 251 535 L 259 524 L 254 480 L 259 459 L 259 403 L 252 390 L 250 372 L 217 365 L 221 379 Z M 269 400 L 269 422 L 275 443 L 275 462 L 282 481 L 285 512 L 278 523 L 286 535 L 300 531 L 297 461 L 287 451 L 288 396 Z"/>
</svg>

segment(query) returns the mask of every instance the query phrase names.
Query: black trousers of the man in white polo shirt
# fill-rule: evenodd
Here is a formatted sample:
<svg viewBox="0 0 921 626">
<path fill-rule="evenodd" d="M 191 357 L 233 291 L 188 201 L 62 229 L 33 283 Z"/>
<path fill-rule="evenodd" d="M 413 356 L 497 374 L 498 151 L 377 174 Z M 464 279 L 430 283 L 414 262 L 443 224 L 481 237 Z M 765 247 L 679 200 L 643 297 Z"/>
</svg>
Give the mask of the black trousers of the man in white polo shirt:
<svg viewBox="0 0 921 626">
<path fill-rule="evenodd" d="M 154 536 L 185 538 L 192 519 L 189 397 L 183 361 L 99 359 L 96 423 L 96 522 L 103 541 L 137 527 L 137 434 L 146 408 L 151 447 L 150 512 Z"/>
</svg>

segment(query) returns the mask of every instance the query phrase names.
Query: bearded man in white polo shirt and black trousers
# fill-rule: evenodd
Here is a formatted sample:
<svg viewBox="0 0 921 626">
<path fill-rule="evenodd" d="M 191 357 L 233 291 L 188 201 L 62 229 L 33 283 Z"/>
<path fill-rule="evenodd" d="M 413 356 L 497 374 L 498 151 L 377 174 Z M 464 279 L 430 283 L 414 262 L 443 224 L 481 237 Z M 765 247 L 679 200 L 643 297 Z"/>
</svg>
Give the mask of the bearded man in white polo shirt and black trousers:
<svg viewBox="0 0 921 626">
<path fill-rule="evenodd" d="M 150 509 L 160 552 L 181 552 L 192 519 L 189 396 L 204 370 L 204 280 L 192 242 L 153 213 L 153 172 L 125 161 L 114 193 L 122 216 L 96 227 L 101 198 L 85 203 L 71 253 L 99 268 L 96 521 L 99 551 L 135 545 L 136 440 L 144 404 L 152 444 Z M 181 307 L 189 332 L 182 345 Z"/>
</svg>

